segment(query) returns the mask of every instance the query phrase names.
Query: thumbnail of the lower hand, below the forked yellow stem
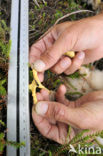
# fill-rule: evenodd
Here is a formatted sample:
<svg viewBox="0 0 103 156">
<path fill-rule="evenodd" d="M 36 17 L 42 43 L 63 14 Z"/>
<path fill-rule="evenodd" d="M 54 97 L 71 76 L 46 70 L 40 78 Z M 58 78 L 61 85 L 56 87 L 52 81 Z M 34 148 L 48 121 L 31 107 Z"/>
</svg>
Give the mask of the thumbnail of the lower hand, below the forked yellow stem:
<svg viewBox="0 0 103 156">
<path fill-rule="evenodd" d="M 35 108 L 37 114 L 44 115 L 48 110 L 48 104 L 45 102 L 38 102 Z"/>
</svg>

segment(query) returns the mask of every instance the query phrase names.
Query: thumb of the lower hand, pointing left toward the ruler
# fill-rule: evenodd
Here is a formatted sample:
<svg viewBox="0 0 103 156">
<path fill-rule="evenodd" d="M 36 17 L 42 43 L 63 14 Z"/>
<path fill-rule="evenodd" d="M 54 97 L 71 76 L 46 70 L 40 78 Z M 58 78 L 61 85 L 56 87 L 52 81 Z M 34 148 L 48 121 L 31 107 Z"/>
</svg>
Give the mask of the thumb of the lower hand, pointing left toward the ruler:
<svg viewBox="0 0 103 156">
<path fill-rule="evenodd" d="M 40 101 L 35 108 L 38 115 L 70 124 L 73 127 L 86 129 L 87 114 L 80 108 L 68 108 L 58 102 Z"/>
</svg>

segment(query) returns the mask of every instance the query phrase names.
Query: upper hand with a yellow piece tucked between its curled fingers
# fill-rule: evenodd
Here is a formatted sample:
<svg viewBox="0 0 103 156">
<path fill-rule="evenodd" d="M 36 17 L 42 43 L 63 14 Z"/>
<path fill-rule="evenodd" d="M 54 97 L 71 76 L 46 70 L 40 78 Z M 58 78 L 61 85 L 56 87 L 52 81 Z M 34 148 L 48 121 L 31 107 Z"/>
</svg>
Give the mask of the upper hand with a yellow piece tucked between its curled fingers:
<svg viewBox="0 0 103 156">
<path fill-rule="evenodd" d="M 73 60 L 63 56 L 70 50 L 78 52 Z M 30 63 L 38 72 L 51 68 L 57 74 L 71 74 L 102 57 L 103 14 L 56 25 L 30 50 Z"/>
</svg>

